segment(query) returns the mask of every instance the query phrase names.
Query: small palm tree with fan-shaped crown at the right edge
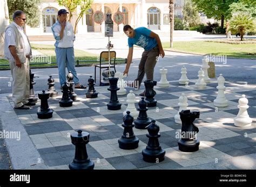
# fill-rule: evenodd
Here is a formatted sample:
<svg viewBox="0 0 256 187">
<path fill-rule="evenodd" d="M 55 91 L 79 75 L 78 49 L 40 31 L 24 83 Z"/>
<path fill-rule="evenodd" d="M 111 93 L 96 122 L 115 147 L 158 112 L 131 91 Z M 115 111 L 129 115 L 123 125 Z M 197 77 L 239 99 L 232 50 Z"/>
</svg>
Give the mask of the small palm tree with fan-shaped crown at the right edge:
<svg viewBox="0 0 256 187">
<path fill-rule="evenodd" d="M 230 19 L 231 32 L 240 33 L 241 41 L 245 35 L 245 32 L 255 31 L 255 20 L 248 12 L 236 12 Z"/>
</svg>

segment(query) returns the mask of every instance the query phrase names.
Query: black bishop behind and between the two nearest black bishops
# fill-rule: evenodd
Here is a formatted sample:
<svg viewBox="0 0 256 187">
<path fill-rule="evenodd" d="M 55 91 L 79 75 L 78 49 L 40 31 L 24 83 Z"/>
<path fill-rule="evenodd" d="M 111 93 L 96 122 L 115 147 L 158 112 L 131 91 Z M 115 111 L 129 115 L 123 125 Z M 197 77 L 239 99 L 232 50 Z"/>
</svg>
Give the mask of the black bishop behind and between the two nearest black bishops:
<svg viewBox="0 0 256 187">
<path fill-rule="evenodd" d="M 145 129 L 146 126 L 148 126 L 151 121 L 147 117 L 147 102 L 144 100 L 144 97 L 142 97 L 142 100 L 139 102 L 139 116 L 136 120 L 133 121 L 135 124 L 135 128 L 138 129 Z"/>
</svg>

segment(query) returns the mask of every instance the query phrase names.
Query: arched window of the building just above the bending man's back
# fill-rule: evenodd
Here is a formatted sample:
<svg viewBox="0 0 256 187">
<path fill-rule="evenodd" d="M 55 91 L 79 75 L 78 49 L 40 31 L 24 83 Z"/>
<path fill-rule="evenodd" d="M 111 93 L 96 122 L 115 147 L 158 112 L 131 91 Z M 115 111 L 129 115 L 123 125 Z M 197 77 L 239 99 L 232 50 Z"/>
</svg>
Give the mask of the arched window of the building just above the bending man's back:
<svg viewBox="0 0 256 187">
<path fill-rule="evenodd" d="M 147 10 L 147 25 L 150 30 L 160 29 L 160 10 L 157 7 L 151 7 Z"/>
</svg>

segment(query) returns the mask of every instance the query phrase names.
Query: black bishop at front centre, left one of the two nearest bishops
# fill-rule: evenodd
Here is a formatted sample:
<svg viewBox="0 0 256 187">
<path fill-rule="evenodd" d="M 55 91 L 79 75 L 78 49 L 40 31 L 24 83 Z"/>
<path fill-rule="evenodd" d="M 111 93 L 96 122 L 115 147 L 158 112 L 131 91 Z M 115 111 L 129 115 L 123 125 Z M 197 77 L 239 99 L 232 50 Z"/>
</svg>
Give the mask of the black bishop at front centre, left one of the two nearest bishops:
<svg viewBox="0 0 256 187">
<path fill-rule="evenodd" d="M 121 138 L 118 139 L 118 144 L 121 149 L 136 149 L 139 146 L 139 139 L 134 135 L 132 127 L 134 127 L 133 117 L 130 115 L 130 111 L 126 111 L 126 115 L 123 117 L 124 132 Z"/>
</svg>

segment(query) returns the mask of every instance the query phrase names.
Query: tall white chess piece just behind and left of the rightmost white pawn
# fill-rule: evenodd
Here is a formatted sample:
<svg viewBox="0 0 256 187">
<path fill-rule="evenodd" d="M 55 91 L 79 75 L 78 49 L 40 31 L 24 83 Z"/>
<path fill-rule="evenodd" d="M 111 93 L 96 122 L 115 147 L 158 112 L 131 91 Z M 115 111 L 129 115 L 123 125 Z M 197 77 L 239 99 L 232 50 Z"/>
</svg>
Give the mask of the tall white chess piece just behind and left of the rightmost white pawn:
<svg viewBox="0 0 256 187">
<path fill-rule="evenodd" d="M 225 78 L 222 76 L 222 74 L 220 74 L 220 76 L 218 77 L 218 86 L 216 87 L 218 89 L 218 95 L 217 98 L 213 100 L 213 104 L 214 106 L 218 106 L 218 107 L 226 107 L 228 105 L 228 101 L 225 97 Z"/>
</svg>

